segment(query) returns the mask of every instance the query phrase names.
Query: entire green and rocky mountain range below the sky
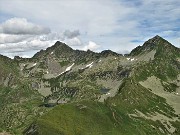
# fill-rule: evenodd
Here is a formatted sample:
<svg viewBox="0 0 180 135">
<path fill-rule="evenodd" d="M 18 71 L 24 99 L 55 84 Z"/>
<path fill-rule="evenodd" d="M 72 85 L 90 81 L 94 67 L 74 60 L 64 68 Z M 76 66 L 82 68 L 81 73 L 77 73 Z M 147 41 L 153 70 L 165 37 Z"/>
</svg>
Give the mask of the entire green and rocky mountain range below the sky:
<svg viewBox="0 0 180 135">
<path fill-rule="evenodd" d="M 180 48 L 158 35 L 126 55 L 0 55 L 0 135 L 179 135 L 179 103 Z"/>
</svg>

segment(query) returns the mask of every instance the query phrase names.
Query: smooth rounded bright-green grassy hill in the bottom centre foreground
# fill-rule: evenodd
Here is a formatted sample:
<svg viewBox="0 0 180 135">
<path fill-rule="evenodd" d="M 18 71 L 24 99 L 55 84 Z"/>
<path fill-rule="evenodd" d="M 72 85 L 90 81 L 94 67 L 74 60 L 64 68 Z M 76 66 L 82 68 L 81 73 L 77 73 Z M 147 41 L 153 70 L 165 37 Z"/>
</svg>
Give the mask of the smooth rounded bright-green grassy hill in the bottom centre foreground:
<svg viewBox="0 0 180 135">
<path fill-rule="evenodd" d="M 90 101 L 57 106 L 40 117 L 36 126 L 40 135 L 146 135 L 162 134 L 158 128 L 164 128 L 152 120 L 132 119 L 115 107 Z"/>
</svg>

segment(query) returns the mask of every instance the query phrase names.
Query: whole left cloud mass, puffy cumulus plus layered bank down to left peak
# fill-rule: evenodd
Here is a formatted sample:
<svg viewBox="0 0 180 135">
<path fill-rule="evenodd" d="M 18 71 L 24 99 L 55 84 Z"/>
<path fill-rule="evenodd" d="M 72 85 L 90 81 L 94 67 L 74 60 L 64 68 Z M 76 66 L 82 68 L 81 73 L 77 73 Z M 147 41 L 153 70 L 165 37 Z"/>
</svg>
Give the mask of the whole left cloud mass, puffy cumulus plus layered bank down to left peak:
<svg viewBox="0 0 180 135">
<path fill-rule="evenodd" d="M 27 22 L 24 18 L 12 18 L 0 25 L 0 53 L 9 57 L 32 56 L 28 52 L 46 49 L 56 41 L 66 42 L 70 46 L 82 45 L 79 31 L 50 32 L 46 28 Z M 50 32 L 50 33 L 49 33 Z M 26 52 L 26 53 L 24 53 Z"/>
</svg>

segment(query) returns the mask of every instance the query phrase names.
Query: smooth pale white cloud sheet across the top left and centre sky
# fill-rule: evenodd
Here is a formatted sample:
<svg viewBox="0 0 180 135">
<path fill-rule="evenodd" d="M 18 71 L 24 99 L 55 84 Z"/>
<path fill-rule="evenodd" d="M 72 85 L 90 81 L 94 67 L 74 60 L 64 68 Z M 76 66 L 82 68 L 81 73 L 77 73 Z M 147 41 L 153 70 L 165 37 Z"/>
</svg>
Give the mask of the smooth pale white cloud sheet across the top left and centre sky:
<svg viewBox="0 0 180 135">
<path fill-rule="evenodd" d="M 83 33 L 87 32 L 88 35 L 113 32 L 116 29 L 118 16 L 124 17 L 131 12 L 127 7 L 121 6 L 121 2 L 107 0 L 53 0 L 46 2 L 1 0 L 1 11 L 23 18 L 28 17 L 29 20 L 36 20 L 46 26 L 50 25 L 54 31 L 79 29 Z"/>
</svg>

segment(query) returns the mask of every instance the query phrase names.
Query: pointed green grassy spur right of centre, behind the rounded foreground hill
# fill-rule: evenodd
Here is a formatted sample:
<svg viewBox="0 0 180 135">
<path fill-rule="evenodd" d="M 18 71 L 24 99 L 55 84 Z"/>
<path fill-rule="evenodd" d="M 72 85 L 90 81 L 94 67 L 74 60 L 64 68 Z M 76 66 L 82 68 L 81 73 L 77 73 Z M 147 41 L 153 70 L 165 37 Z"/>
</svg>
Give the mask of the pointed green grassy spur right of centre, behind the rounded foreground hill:
<svg viewBox="0 0 180 135">
<path fill-rule="evenodd" d="M 124 113 L 133 113 L 134 109 L 138 109 L 144 114 L 159 112 L 163 110 L 166 116 L 176 116 L 173 108 L 171 108 L 164 98 L 156 96 L 149 90 L 136 83 L 132 79 L 127 79 L 122 83 L 119 93 L 106 101 L 108 104 L 115 104 L 116 108 Z"/>
</svg>

